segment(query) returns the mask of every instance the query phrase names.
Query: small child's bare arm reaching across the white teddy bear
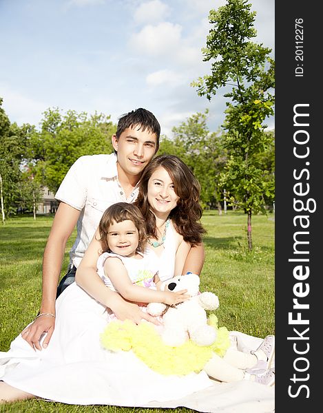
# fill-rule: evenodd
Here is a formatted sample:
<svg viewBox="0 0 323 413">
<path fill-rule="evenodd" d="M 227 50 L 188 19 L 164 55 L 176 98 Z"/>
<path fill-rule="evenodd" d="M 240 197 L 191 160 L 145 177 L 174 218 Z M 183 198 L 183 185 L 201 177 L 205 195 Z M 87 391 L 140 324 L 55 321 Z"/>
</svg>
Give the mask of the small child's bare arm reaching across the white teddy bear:
<svg viewBox="0 0 323 413">
<path fill-rule="evenodd" d="M 190 298 L 189 295 L 185 295 L 187 290 L 180 290 L 177 293 L 173 293 L 172 291 L 152 290 L 132 284 L 127 269 L 118 257 L 108 257 L 107 260 L 105 260 L 104 271 L 118 293 L 129 301 L 142 303 L 160 302 L 171 306 L 182 303 Z"/>
</svg>

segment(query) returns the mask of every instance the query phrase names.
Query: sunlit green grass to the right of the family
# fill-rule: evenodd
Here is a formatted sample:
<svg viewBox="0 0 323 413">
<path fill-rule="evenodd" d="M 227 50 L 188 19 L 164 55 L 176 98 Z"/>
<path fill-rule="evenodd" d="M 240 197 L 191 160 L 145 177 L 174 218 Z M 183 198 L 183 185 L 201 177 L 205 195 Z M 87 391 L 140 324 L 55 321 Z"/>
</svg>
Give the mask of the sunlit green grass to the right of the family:
<svg viewBox="0 0 323 413">
<path fill-rule="evenodd" d="M 253 217 L 253 251 L 247 250 L 247 216 L 205 212 L 202 222 L 206 257 L 201 290 L 219 297 L 219 324 L 229 330 L 264 337 L 274 334 L 273 216 Z"/>
</svg>

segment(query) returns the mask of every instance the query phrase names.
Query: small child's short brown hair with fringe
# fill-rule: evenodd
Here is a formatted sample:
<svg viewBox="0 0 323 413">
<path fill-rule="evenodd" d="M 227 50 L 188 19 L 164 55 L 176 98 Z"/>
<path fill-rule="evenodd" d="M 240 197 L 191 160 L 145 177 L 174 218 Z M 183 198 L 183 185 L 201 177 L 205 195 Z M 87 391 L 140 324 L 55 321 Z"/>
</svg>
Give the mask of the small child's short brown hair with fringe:
<svg viewBox="0 0 323 413">
<path fill-rule="evenodd" d="M 139 242 L 137 251 L 144 251 L 145 244 L 147 242 L 147 234 L 143 214 L 134 204 L 129 204 L 128 202 L 117 202 L 116 204 L 110 205 L 110 207 L 104 211 L 98 224 L 98 231 L 100 233 L 100 238 L 98 241 L 101 242 L 101 253 L 110 251 L 107 243 L 107 235 L 112 222 L 123 222 L 125 220 L 134 222 L 136 229 L 138 229 Z"/>
</svg>

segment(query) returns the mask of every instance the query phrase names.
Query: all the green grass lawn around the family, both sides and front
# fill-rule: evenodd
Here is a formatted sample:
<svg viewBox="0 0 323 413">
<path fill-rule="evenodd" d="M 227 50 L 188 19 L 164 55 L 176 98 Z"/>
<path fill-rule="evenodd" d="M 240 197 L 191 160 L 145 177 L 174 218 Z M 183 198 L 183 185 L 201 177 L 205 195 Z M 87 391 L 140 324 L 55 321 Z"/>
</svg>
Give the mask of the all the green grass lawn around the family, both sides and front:
<svg viewBox="0 0 323 413">
<path fill-rule="evenodd" d="M 211 290 L 220 300 L 216 311 L 220 326 L 249 335 L 275 334 L 274 326 L 274 220 L 273 215 L 253 217 L 253 251 L 247 251 L 247 216 L 237 211 L 218 215 L 205 211 L 202 223 L 206 258 L 200 290 Z M 12 218 L 0 225 L 0 350 L 37 315 L 41 302 L 41 260 L 52 217 Z M 68 263 L 71 237 L 62 273 Z M 59 384 L 58 384 L 59 385 Z M 0 412 L 159 412 L 158 409 L 76 406 L 30 400 L 0 406 Z M 185 407 L 163 412 L 185 413 Z"/>
</svg>

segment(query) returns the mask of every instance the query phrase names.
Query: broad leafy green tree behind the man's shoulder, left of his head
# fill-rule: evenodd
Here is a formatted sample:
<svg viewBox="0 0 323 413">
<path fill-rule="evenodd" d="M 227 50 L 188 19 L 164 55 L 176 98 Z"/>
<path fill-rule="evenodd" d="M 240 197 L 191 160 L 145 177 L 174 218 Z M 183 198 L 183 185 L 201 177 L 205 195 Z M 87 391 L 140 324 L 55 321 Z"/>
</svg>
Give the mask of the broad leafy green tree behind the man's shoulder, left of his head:
<svg viewBox="0 0 323 413">
<path fill-rule="evenodd" d="M 34 130 L 29 142 L 29 167 L 35 180 L 56 192 L 79 156 L 113 151 L 115 131 L 116 125 L 104 114 L 48 109 L 41 130 Z"/>
</svg>

